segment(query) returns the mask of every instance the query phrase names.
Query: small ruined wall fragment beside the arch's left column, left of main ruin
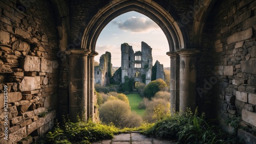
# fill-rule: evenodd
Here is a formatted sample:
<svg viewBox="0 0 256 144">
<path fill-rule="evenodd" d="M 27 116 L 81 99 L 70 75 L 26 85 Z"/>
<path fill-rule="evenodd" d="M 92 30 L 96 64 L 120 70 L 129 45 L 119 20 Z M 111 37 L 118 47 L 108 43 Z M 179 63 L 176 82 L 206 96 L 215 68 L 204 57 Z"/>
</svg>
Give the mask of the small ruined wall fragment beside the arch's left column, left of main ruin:
<svg viewBox="0 0 256 144">
<path fill-rule="evenodd" d="M 112 77 L 111 53 L 106 51 L 99 59 L 99 66 L 94 66 L 94 83 L 101 86 L 110 84 Z"/>
</svg>

